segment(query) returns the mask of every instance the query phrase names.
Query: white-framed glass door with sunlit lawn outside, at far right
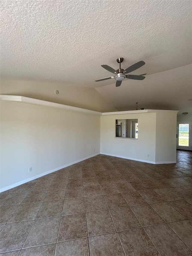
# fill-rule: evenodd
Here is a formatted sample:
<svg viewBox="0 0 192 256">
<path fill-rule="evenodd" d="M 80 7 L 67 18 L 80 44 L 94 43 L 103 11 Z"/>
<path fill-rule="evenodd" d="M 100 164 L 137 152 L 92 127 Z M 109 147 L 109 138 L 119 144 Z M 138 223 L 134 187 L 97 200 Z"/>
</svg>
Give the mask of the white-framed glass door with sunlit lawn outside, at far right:
<svg viewBox="0 0 192 256">
<path fill-rule="evenodd" d="M 192 122 L 177 122 L 177 149 L 192 150 Z"/>
</svg>

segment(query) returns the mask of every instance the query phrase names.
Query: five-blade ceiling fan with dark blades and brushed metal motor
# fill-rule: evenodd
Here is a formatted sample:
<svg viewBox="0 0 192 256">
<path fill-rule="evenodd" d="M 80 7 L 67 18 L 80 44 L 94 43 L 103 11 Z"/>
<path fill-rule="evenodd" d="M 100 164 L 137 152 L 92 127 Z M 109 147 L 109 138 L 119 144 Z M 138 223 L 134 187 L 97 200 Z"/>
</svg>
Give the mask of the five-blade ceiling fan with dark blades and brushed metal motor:
<svg viewBox="0 0 192 256">
<path fill-rule="evenodd" d="M 134 79 L 134 80 L 143 80 L 143 79 L 145 79 L 145 77 L 143 77 L 143 75 L 146 75 L 146 74 L 142 74 L 142 75 L 128 75 L 128 73 L 133 72 L 137 68 L 140 68 L 143 65 L 145 65 L 144 61 L 139 61 L 139 62 L 135 63 L 134 65 L 126 68 L 125 70 L 121 68 L 121 63 L 123 62 L 123 58 L 118 58 L 117 62 L 119 63 L 119 69 L 117 69 L 117 70 L 111 68 L 108 65 L 101 65 L 101 67 L 103 67 L 106 70 L 110 71 L 111 73 L 115 74 L 115 76 L 113 76 L 113 77 L 105 77 L 105 78 L 102 78 L 102 79 L 98 79 L 98 80 L 95 80 L 95 82 L 99 82 L 99 81 L 104 81 L 104 80 L 108 80 L 108 79 L 111 79 L 111 78 L 115 78 L 115 80 L 117 81 L 116 82 L 116 87 L 118 87 L 118 86 L 121 85 L 122 80 L 124 80 L 125 78 Z"/>
</svg>

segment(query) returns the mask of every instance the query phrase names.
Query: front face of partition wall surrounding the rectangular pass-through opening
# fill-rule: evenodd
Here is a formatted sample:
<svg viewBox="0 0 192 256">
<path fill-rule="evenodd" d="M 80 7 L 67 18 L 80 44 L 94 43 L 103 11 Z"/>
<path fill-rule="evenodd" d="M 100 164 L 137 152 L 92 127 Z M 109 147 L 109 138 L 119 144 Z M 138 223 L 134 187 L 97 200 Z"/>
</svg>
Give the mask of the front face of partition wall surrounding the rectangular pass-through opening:
<svg viewBox="0 0 192 256">
<path fill-rule="evenodd" d="M 115 137 L 116 119 L 138 119 L 138 139 Z M 154 163 L 155 129 L 156 113 L 101 116 L 101 152 Z"/>
</svg>

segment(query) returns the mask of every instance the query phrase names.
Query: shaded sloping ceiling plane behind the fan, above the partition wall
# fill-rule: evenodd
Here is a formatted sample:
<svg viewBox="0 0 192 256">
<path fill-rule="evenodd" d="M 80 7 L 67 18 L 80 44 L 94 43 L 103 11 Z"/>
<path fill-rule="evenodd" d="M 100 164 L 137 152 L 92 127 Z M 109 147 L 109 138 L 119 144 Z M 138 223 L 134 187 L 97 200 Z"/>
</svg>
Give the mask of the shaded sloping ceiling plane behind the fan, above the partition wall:
<svg viewBox="0 0 192 256">
<path fill-rule="evenodd" d="M 138 109 L 179 110 L 192 106 L 192 65 L 151 74 L 142 81 L 127 79 L 120 87 L 106 85 L 97 90 L 119 111 L 136 110 L 136 102 Z"/>
</svg>

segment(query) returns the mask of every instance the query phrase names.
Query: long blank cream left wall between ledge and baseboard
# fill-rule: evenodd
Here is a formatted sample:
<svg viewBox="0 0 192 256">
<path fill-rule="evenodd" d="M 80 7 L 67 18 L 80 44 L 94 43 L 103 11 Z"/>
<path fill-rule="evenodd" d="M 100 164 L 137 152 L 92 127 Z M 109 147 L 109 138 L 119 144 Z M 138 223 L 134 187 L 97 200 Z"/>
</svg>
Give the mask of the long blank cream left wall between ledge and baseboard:
<svg viewBox="0 0 192 256">
<path fill-rule="evenodd" d="M 1 190 L 99 152 L 99 115 L 1 100 Z"/>
</svg>

